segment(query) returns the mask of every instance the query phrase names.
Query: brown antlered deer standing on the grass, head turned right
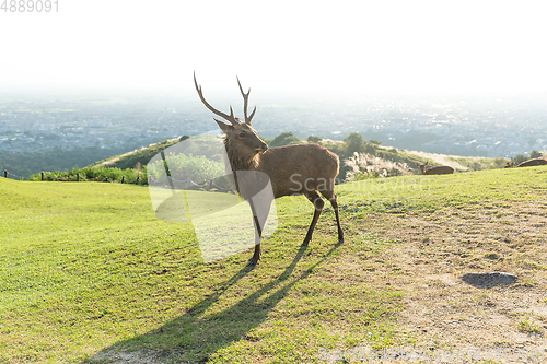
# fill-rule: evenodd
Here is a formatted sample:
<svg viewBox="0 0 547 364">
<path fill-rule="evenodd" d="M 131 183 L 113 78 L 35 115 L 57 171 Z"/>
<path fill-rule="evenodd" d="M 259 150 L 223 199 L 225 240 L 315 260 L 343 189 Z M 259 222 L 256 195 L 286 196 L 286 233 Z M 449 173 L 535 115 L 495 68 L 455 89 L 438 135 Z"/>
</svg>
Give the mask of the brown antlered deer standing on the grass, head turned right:
<svg viewBox="0 0 547 364">
<path fill-rule="evenodd" d="M 338 226 L 338 243 L 344 243 L 344 232 L 340 225 L 338 202 L 335 195 L 335 178 L 338 176 L 339 171 L 338 156 L 318 144 L 292 144 L 268 148 L 268 145 L 258 137 L 255 129 L 251 126 L 251 120 L 255 115 L 256 106 L 253 113 L 247 115 L 247 104 L 251 89 L 247 93 L 244 93 L 238 78 L 237 84 L 243 95 L 243 113 L 245 116 L 244 122 L 234 117 L 232 106 L 230 106 L 230 115 L 226 115 L 214 109 L 206 102 L 201 86 L 198 86 L 196 81 L 195 72 L 194 83 L 203 105 L 214 115 L 218 115 L 230 122 L 226 124 L 214 119 L 225 134 L 224 145 L 232 171 L 235 174 L 237 174 L 237 171 L 263 172 L 269 177 L 275 198 L 304 195 L 310 202 L 314 204 L 315 211 L 312 223 L 310 224 L 307 234 L 302 245 L 307 245 L 312 239 L 315 224 L 317 223 L 325 204 L 319 193 L 323 195 L 330 201 L 335 211 L 336 224 Z M 256 183 L 256 180 L 252 179 L 253 177 L 249 178 L 251 179 L 247 180 L 236 178 L 235 187 L 240 196 L 249 202 L 255 216 L 255 251 L 248 262 L 249 266 L 254 266 L 260 259 L 261 227 L 257 219 L 256 207 L 253 206 L 253 200 L 251 199 L 253 197 L 253 190 L 256 190 L 257 188 L 241 188 L 242 186 L 246 185 L 248 187 Z M 258 181 L 258 184 L 264 185 L 264 181 Z"/>
</svg>

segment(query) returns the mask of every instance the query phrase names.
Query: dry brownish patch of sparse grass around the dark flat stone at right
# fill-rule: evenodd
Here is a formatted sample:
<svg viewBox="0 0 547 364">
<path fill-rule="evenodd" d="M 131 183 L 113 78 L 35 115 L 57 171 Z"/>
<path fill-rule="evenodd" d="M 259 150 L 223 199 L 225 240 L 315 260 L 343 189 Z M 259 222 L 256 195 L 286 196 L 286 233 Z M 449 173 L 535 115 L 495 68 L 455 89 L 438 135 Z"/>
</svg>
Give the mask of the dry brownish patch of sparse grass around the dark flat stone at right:
<svg viewBox="0 0 547 364">
<path fill-rule="evenodd" d="M 377 260 L 383 263 L 376 263 L 369 283 L 407 293 L 399 325 L 408 341 L 430 350 L 543 348 L 547 352 L 545 202 L 369 220 L 372 230 L 400 242 L 382 253 Z M 517 279 L 490 289 L 462 279 L 488 272 Z"/>
</svg>

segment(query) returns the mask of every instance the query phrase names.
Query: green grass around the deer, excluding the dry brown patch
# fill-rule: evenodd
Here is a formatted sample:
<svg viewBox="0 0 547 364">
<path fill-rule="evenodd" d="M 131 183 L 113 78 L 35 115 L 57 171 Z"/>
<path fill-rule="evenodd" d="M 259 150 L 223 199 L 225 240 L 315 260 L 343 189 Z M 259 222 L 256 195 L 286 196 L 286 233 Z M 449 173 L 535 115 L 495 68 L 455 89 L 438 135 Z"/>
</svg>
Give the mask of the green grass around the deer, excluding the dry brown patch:
<svg viewBox="0 0 547 364">
<path fill-rule="evenodd" d="M 405 292 L 366 279 L 405 242 L 368 231 L 368 214 L 496 208 L 546 183 L 534 167 L 341 185 L 346 242 L 327 209 L 307 248 L 313 209 L 282 198 L 263 260 L 246 268 L 251 251 L 203 263 L 191 226 L 155 219 L 146 187 L 0 178 L 0 362 L 302 363 L 392 347 L 408 340 Z"/>
</svg>

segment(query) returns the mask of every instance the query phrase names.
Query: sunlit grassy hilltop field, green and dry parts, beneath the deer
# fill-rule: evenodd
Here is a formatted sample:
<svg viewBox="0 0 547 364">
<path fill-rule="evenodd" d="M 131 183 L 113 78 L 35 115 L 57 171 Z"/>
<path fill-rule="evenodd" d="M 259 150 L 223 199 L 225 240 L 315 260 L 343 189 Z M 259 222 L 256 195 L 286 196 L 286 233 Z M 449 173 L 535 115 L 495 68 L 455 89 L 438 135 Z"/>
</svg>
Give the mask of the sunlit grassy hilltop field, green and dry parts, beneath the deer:
<svg viewBox="0 0 547 364">
<path fill-rule="evenodd" d="M 514 336 L 502 343 L 546 344 L 547 168 L 371 179 L 337 193 L 344 244 L 326 209 L 301 248 L 312 206 L 282 198 L 278 230 L 247 268 L 251 251 L 203 263 L 191 226 L 155 219 L 148 188 L 0 178 L 0 362 L 303 363 L 356 348 L 454 349 L 474 343 L 485 301 L 500 308 L 521 295 L 537 296 L 535 308 L 509 309 L 498 326 Z M 457 280 L 489 270 L 520 283 Z M 451 336 L 439 315 L 465 325 Z"/>
</svg>

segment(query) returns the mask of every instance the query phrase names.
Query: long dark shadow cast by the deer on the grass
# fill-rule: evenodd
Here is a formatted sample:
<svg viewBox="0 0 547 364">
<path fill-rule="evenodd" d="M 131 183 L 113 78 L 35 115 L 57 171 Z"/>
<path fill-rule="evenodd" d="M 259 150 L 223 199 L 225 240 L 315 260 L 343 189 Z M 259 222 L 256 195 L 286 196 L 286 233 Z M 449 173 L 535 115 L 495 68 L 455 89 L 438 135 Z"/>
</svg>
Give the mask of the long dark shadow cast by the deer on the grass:
<svg viewBox="0 0 547 364">
<path fill-rule="evenodd" d="M 341 243 L 336 244 L 319 261 L 283 284 L 291 278 L 307 248 L 307 246 L 301 246 L 294 259 L 277 280 L 265 284 L 231 307 L 203 316 L 228 289 L 255 269 L 255 267 L 245 267 L 230 278 L 221 289 L 194 305 L 184 315 L 164 324 L 159 329 L 105 348 L 83 363 L 105 361 L 117 363 L 117 359 L 121 360 L 120 363 L 127 362 L 127 354 L 130 355 L 131 352 L 139 355 L 144 353 L 147 355 L 144 359 L 149 362 L 161 361 L 162 357 L 173 360 L 173 357 L 178 356 L 184 362 L 205 363 L 217 351 L 233 342 L 256 340 L 252 336 L 249 337 L 248 332 L 265 321 L 270 310 L 294 284 L 306 279 L 340 245 Z M 188 355 L 189 352 L 190 355 Z M 126 359 L 124 360 L 124 357 Z"/>
</svg>

